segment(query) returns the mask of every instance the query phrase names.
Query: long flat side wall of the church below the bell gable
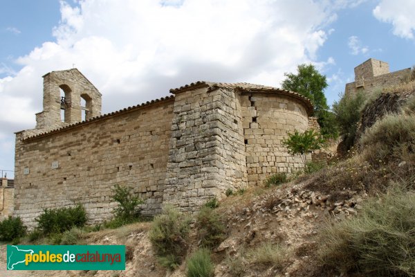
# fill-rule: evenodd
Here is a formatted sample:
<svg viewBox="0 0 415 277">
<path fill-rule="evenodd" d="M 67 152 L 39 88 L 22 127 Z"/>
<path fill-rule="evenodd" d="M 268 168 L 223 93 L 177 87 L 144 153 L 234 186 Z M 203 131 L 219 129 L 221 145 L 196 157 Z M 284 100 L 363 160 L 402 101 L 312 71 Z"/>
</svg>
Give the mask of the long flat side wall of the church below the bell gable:
<svg viewBox="0 0 415 277">
<path fill-rule="evenodd" d="M 163 200 L 174 98 L 24 139 L 17 134 L 15 215 L 81 203 L 90 222 L 111 217 L 111 188 L 127 185 L 156 213 Z"/>
</svg>

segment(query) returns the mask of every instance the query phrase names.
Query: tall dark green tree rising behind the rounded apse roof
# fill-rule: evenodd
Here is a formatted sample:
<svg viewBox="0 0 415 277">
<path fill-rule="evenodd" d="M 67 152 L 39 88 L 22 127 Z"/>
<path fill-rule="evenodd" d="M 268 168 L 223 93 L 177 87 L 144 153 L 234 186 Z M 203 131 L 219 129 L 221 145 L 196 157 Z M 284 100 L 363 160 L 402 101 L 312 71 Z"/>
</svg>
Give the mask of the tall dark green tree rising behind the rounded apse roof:
<svg viewBox="0 0 415 277">
<path fill-rule="evenodd" d="M 329 109 L 324 89 L 328 87 L 326 76 L 320 74 L 313 64 L 299 64 L 297 74 L 284 73 L 286 79 L 282 81 L 282 88 L 295 91 L 310 99 L 314 105 L 314 112 L 318 118 L 320 111 Z"/>
</svg>

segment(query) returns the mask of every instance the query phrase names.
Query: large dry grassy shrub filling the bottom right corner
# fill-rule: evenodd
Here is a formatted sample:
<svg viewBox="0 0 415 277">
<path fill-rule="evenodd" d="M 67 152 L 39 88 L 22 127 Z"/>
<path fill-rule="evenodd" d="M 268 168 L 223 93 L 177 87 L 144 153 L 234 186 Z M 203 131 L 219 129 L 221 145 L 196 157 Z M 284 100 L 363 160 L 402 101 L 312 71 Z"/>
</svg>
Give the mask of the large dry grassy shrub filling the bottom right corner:
<svg viewBox="0 0 415 277">
<path fill-rule="evenodd" d="M 318 254 L 343 274 L 415 276 L 415 195 L 389 192 L 370 199 L 358 217 L 327 224 Z"/>
</svg>

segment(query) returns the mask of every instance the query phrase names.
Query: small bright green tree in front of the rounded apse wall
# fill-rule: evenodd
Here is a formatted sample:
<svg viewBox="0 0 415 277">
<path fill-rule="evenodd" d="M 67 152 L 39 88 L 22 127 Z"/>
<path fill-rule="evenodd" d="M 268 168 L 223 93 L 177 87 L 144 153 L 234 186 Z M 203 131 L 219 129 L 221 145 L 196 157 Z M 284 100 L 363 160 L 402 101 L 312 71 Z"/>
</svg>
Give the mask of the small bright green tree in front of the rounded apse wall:
<svg viewBox="0 0 415 277">
<path fill-rule="evenodd" d="M 311 150 L 322 148 L 324 139 L 319 133 L 313 129 L 300 134 L 297 130 L 294 134 L 288 133 L 288 138 L 282 141 L 282 144 L 288 148 L 288 153 L 292 155 L 299 155 L 304 163 L 304 168 L 307 167 L 307 153 Z"/>
</svg>

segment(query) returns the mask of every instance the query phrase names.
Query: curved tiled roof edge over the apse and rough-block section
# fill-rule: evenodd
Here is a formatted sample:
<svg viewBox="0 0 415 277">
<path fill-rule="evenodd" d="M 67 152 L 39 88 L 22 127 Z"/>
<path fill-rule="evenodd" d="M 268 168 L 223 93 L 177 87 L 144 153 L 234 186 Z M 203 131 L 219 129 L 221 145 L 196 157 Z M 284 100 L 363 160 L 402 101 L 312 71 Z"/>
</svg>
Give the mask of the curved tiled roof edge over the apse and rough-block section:
<svg viewBox="0 0 415 277">
<path fill-rule="evenodd" d="M 225 82 L 197 81 L 197 82 L 192 82 L 191 84 L 186 84 L 182 87 L 178 87 L 176 89 L 170 89 L 170 93 L 173 93 L 173 94 L 181 93 L 183 91 L 197 89 L 199 87 L 208 87 L 208 92 L 214 91 L 215 89 L 219 89 L 222 87 L 222 88 L 237 89 L 239 91 L 252 92 L 252 93 L 266 92 L 266 93 L 277 93 L 277 94 L 281 94 L 285 96 L 291 96 L 304 103 L 304 105 L 308 109 L 308 114 L 313 113 L 313 104 L 311 103 L 311 100 L 306 98 L 305 96 L 302 96 L 302 94 L 299 94 L 294 91 L 287 91 L 285 89 L 278 89 L 276 87 L 264 86 L 262 84 L 250 84 L 248 82 L 225 83 Z"/>
</svg>

